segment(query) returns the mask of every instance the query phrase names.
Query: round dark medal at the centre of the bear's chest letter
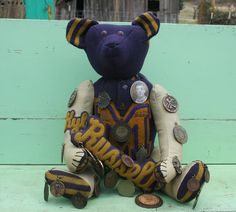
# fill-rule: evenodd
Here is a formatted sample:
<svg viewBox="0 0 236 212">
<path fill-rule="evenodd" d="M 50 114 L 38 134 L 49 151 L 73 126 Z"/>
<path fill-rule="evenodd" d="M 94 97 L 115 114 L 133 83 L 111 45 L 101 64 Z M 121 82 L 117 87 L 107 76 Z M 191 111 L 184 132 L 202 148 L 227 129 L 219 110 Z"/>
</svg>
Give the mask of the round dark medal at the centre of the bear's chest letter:
<svg viewBox="0 0 236 212">
<path fill-rule="evenodd" d="M 129 140 L 130 135 L 131 128 L 125 122 L 118 123 L 111 129 L 112 139 L 119 143 L 127 142 Z"/>
</svg>

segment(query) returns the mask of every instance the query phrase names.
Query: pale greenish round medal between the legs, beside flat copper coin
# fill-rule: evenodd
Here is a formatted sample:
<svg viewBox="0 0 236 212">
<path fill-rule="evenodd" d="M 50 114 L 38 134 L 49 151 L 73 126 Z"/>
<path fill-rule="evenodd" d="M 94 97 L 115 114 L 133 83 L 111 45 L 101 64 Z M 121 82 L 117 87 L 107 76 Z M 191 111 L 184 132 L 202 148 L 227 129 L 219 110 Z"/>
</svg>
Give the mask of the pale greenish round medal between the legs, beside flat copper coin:
<svg viewBox="0 0 236 212">
<path fill-rule="evenodd" d="M 117 191 L 121 196 L 132 197 L 135 193 L 134 183 L 130 180 L 120 180 Z"/>
</svg>

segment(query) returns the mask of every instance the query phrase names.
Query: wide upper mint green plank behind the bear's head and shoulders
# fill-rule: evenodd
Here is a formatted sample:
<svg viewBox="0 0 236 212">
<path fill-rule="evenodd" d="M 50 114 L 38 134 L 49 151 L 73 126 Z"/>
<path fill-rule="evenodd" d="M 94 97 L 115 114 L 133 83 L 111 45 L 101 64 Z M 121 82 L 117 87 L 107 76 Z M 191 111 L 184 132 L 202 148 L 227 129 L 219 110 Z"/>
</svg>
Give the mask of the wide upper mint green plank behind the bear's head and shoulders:
<svg viewBox="0 0 236 212">
<path fill-rule="evenodd" d="M 66 24 L 0 20 L 0 117 L 62 118 L 73 89 L 99 78 Z M 233 26 L 163 24 L 142 73 L 177 97 L 181 118 L 236 119 L 235 40 Z"/>
</svg>

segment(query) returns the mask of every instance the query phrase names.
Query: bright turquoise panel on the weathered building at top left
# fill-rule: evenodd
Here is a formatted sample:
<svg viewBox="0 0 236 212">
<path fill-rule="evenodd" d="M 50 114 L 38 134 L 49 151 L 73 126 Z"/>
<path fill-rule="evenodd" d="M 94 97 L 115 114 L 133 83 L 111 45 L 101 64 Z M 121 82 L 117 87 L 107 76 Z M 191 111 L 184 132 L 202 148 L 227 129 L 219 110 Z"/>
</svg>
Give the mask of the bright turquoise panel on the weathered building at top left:
<svg viewBox="0 0 236 212">
<path fill-rule="evenodd" d="M 54 18 L 54 0 L 24 0 L 27 19 L 49 19 L 48 6 Z"/>
</svg>

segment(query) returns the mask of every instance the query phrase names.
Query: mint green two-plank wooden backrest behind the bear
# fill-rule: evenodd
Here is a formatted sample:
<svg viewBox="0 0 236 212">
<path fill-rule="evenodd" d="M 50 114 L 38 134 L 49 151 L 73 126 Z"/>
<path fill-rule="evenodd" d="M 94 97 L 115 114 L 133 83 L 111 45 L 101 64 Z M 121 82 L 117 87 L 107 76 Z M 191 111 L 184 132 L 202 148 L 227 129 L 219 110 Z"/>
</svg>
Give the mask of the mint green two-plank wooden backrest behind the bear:
<svg viewBox="0 0 236 212">
<path fill-rule="evenodd" d="M 0 20 L 0 164 L 59 164 L 73 89 L 99 76 L 66 21 Z M 236 27 L 162 24 L 143 67 L 180 103 L 184 162 L 236 163 Z"/>
</svg>

